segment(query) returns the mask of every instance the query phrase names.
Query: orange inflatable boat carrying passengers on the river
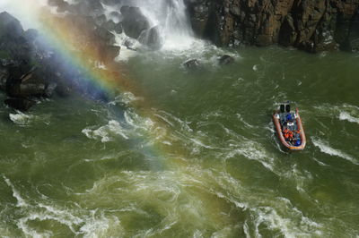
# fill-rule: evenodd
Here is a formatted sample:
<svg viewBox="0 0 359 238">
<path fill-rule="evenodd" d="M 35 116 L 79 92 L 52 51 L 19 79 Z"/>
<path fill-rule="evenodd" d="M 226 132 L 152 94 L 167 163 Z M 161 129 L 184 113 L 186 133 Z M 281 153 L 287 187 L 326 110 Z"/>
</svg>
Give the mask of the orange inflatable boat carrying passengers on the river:
<svg viewBox="0 0 359 238">
<path fill-rule="evenodd" d="M 303 150 L 305 148 L 307 141 L 298 108 L 293 113 L 290 104 L 281 104 L 279 110 L 273 114 L 273 123 L 276 127 L 278 139 L 285 148 L 290 150 Z"/>
</svg>

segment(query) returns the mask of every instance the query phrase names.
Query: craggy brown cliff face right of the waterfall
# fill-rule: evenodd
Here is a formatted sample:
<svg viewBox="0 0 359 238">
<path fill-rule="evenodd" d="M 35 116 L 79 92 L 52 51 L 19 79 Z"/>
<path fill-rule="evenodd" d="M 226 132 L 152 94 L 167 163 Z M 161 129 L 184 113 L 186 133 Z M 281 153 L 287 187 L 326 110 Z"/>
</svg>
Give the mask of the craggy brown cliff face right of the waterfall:
<svg viewBox="0 0 359 238">
<path fill-rule="evenodd" d="M 279 43 L 318 52 L 359 45 L 359 0 L 186 0 L 193 29 L 219 46 Z"/>
</svg>

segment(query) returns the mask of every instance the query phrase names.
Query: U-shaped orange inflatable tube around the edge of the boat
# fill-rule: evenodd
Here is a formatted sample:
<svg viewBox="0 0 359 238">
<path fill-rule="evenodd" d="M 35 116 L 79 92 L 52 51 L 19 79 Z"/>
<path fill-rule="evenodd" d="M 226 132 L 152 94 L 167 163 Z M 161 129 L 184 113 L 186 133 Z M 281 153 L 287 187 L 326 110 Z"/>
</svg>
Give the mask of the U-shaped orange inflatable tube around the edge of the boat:
<svg viewBox="0 0 359 238">
<path fill-rule="evenodd" d="M 281 141 L 281 143 L 283 144 L 283 146 L 286 148 L 286 149 L 290 149 L 290 150 L 293 150 L 293 151 L 300 151 L 300 150 L 303 150 L 305 148 L 305 145 L 307 143 L 307 140 L 306 140 L 306 137 L 305 137 L 305 133 L 304 133 L 304 128 L 302 126 L 302 120 L 301 120 L 301 116 L 299 115 L 298 113 L 298 108 L 296 109 L 296 123 L 297 123 L 297 126 L 298 126 L 298 129 L 299 131 L 301 132 L 300 133 L 300 138 L 301 138 L 301 145 L 300 146 L 293 146 L 289 141 L 286 141 L 285 140 L 285 137 L 283 135 L 283 129 L 282 129 L 282 125 L 279 121 L 279 114 L 278 112 L 276 111 L 274 114 L 273 114 L 273 123 L 275 124 L 275 127 L 276 127 L 276 134 L 278 136 L 278 139 Z"/>
</svg>

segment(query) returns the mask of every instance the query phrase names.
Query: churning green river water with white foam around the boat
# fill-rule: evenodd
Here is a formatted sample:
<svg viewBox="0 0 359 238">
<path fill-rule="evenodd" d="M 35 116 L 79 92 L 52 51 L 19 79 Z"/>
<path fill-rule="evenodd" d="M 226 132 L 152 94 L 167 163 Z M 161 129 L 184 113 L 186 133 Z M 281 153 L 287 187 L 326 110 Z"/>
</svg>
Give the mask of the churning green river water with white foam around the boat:
<svg viewBox="0 0 359 238">
<path fill-rule="evenodd" d="M 144 53 L 142 95 L 0 108 L 2 237 L 358 237 L 359 55 Z M 203 68 L 181 64 L 197 57 Z M 4 95 L 0 96 L 4 99 Z M 307 147 L 279 146 L 293 100 Z"/>
</svg>

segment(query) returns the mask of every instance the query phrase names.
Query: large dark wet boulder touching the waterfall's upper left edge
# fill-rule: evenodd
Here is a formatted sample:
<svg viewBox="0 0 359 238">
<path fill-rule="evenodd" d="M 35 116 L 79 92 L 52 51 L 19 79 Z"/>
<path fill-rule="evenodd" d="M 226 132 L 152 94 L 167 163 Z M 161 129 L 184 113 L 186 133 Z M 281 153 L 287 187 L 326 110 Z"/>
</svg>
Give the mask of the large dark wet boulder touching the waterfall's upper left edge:
<svg viewBox="0 0 359 238">
<path fill-rule="evenodd" d="M 130 38 L 138 38 L 142 31 L 150 29 L 150 23 L 138 7 L 123 6 L 121 13 L 124 16 L 122 28 Z"/>
</svg>

